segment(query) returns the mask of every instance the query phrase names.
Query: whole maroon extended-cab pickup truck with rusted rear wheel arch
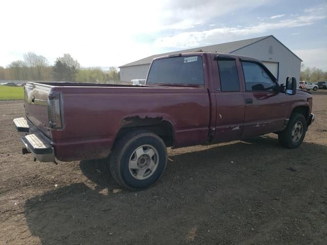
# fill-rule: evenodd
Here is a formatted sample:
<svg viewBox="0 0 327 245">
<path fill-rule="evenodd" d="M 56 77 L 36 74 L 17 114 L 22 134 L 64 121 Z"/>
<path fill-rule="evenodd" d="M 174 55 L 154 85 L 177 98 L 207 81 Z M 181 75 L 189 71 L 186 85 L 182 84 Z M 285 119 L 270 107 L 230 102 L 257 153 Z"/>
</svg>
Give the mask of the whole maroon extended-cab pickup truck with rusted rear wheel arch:
<svg viewBox="0 0 327 245">
<path fill-rule="evenodd" d="M 154 59 L 145 86 L 27 83 L 26 118 L 14 124 L 34 160 L 108 157 L 120 185 L 143 189 L 164 173 L 167 147 L 273 132 L 297 148 L 314 115 L 311 94 L 296 87 L 256 59 L 178 54 Z"/>
</svg>

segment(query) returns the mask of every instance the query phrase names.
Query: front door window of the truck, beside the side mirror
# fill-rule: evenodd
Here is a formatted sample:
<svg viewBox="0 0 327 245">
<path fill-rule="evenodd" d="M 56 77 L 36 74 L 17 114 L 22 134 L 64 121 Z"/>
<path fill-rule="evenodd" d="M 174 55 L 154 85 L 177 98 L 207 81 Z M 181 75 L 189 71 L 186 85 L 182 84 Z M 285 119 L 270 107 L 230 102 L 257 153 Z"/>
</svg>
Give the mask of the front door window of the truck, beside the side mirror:
<svg viewBox="0 0 327 245">
<path fill-rule="evenodd" d="M 276 87 L 267 72 L 258 64 L 242 61 L 247 91 L 273 91 Z"/>
</svg>

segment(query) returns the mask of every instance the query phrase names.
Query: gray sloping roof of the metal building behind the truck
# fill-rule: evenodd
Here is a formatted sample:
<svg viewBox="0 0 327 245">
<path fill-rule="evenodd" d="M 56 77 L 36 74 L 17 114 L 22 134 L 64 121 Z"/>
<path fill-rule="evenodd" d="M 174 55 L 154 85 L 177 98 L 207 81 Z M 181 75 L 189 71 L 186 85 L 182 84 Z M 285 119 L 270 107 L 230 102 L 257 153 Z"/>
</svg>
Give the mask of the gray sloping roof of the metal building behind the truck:
<svg viewBox="0 0 327 245">
<path fill-rule="evenodd" d="M 160 56 L 195 52 L 195 51 L 199 51 L 199 50 L 201 50 L 202 52 L 217 52 L 217 53 L 229 54 L 229 53 L 239 50 L 242 47 L 248 46 L 250 44 L 261 41 L 261 40 L 266 39 L 271 36 L 272 35 L 264 36 L 264 37 L 256 37 L 256 38 L 251 38 L 251 39 L 245 39 L 245 40 L 240 40 L 240 41 L 235 41 L 235 42 L 214 44 L 214 45 L 203 46 L 203 47 L 194 47 L 194 48 L 189 48 L 188 50 L 178 50 L 178 51 L 169 52 L 169 53 L 165 53 L 165 54 L 152 55 L 152 56 L 146 57 L 144 59 L 136 60 L 134 62 L 122 65 L 120 67 L 150 64 L 154 58 L 157 58 Z"/>
</svg>

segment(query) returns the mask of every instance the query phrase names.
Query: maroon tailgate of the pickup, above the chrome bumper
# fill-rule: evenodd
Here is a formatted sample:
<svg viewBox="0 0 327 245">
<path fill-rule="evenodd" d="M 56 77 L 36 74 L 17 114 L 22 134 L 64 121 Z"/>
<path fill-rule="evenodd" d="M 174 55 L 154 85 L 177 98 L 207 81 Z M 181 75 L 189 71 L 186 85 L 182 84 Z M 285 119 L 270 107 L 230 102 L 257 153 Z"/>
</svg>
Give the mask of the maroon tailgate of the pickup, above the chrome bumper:
<svg viewBox="0 0 327 245">
<path fill-rule="evenodd" d="M 51 137 L 48 112 L 50 91 L 49 85 L 27 83 L 24 94 L 26 117 L 48 137 Z"/>
</svg>

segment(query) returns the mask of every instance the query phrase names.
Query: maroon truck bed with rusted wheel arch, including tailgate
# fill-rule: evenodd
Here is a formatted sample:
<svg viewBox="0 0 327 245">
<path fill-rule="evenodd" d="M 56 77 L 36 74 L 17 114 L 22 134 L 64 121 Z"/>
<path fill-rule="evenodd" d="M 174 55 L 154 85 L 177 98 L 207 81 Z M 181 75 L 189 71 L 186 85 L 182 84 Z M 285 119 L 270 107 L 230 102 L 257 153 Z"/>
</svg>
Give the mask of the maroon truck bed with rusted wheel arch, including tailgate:
<svg viewBox="0 0 327 245">
<path fill-rule="evenodd" d="M 211 112 L 206 88 L 28 83 L 25 91 L 27 119 L 51 139 L 59 160 L 106 157 L 119 130 L 140 119 L 171 125 L 175 147 L 207 140 Z M 50 93 L 61 96 L 60 129 L 49 124 Z"/>
</svg>

